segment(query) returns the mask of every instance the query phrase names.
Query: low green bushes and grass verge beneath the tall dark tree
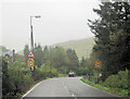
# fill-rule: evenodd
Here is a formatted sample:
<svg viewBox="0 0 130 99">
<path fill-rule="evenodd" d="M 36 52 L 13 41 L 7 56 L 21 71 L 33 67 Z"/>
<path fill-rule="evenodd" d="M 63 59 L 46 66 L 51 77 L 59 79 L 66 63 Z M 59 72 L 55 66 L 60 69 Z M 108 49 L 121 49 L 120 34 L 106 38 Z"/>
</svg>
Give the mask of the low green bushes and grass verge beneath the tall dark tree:
<svg viewBox="0 0 130 99">
<path fill-rule="evenodd" d="M 120 71 L 116 75 L 108 76 L 105 82 L 100 81 L 100 83 L 94 83 L 89 81 L 87 76 L 80 79 L 81 82 L 89 84 L 95 88 L 108 91 L 110 94 L 128 98 L 128 91 L 130 90 L 128 82 L 128 70 Z"/>
</svg>

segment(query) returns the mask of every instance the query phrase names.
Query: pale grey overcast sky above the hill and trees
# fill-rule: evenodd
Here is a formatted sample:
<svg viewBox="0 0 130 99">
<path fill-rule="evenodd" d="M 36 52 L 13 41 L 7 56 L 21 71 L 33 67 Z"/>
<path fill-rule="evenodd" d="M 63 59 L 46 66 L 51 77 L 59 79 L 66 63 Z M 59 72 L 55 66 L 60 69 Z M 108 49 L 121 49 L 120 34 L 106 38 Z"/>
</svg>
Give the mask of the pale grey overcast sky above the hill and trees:
<svg viewBox="0 0 130 99">
<path fill-rule="evenodd" d="M 16 51 L 30 44 L 30 15 L 35 42 L 50 46 L 93 36 L 88 18 L 98 18 L 92 11 L 99 0 L 4 0 L 0 3 L 0 41 Z"/>
</svg>

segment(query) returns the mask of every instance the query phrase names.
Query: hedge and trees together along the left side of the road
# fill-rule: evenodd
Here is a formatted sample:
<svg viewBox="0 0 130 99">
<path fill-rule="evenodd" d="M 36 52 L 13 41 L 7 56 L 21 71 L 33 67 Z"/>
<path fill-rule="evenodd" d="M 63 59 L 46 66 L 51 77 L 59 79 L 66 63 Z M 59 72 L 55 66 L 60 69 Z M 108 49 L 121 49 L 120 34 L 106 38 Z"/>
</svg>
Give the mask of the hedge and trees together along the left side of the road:
<svg viewBox="0 0 130 99">
<path fill-rule="evenodd" d="M 15 54 L 13 58 L 1 57 L 2 60 L 2 94 L 3 98 L 21 97 L 36 83 L 63 77 L 70 71 L 78 69 L 78 58 L 75 50 L 64 50 L 62 47 L 44 47 L 36 45 L 35 70 L 27 66 L 28 46 L 24 48 L 24 55 Z"/>
</svg>

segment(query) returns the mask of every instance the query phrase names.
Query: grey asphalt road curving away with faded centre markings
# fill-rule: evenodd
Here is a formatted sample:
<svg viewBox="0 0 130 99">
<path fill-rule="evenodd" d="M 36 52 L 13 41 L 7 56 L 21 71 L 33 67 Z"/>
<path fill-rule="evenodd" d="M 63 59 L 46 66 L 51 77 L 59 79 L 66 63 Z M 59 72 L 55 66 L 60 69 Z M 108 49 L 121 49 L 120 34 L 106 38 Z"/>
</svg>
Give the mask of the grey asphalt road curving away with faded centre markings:
<svg viewBox="0 0 130 99">
<path fill-rule="evenodd" d="M 106 97 L 109 97 L 110 99 L 117 99 L 114 95 L 80 82 L 80 78 L 61 77 L 46 79 L 27 94 L 25 99 L 27 97 L 73 97 L 73 99 L 79 99 L 78 97 L 84 97 L 83 99 L 88 99 L 89 97 L 104 97 L 106 99 Z"/>
</svg>

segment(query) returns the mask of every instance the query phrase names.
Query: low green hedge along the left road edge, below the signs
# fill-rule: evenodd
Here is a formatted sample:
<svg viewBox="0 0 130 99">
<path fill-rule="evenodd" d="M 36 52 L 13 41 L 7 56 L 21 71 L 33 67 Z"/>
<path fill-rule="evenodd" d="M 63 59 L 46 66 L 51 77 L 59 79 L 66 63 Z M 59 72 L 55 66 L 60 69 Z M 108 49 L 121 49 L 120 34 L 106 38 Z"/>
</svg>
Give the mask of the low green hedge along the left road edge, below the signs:
<svg viewBox="0 0 130 99">
<path fill-rule="evenodd" d="M 35 82 L 47 77 L 58 76 L 55 69 L 50 69 L 47 65 L 41 67 L 35 66 L 35 71 L 25 67 L 25 63 L 15 61 L 9 64 L 5 59 L 2 59 L 2 94 L 5 96 L 17 96 L 28 90 Z"/>
</svg>

